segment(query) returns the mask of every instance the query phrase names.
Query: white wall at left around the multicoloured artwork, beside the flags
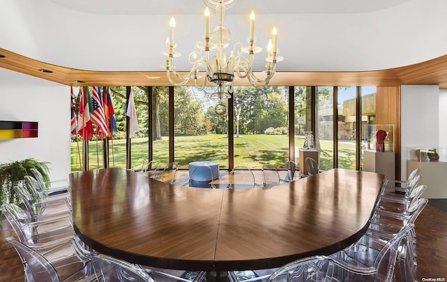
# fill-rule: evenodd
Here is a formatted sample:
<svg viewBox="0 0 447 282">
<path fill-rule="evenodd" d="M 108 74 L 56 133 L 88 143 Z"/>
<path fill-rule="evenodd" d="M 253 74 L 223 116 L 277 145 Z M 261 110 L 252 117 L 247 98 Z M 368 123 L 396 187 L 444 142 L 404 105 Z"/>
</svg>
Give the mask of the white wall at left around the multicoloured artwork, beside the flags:
<svg viewBox="0 0 447 282">
<path fill-rule="evenodd" d="M 20 82 L 8 83 L 8 79 Z M 6 70 L 0 71 L 0 80 L 0 120 L 38 122 L 38 138 L 0 140 L 0 163 L 36 158 L 50 162 L 50 179 L 66 179 L 70 172 L 70 88 Z"/>
</svg>

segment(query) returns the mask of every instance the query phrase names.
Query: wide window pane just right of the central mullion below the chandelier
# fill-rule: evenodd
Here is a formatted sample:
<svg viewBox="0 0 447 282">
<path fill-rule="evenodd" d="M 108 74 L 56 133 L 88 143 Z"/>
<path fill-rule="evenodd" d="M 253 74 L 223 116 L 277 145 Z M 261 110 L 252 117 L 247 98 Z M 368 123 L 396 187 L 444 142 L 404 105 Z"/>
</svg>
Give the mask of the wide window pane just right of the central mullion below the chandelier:
<svg viewBox="0 0 447 282">
<path fill-rule="evenodd" d="M 261 169 L 288 160 L 288 87 L 235 87 L 234 165 Z"/>
</svg>

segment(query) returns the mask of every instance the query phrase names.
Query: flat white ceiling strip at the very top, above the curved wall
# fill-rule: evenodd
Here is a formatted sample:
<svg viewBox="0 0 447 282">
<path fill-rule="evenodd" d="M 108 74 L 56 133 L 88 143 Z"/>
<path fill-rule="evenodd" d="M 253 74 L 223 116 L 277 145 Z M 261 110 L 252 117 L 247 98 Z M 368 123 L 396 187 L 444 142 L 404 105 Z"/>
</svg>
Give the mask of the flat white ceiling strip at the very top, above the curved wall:
<svg viewBox="0 0 447 282">
<path fill-rule="evenodd" d="M 108 15 L 200 14 L 203 1 L 196 0 L 50 0 L 83 13 Z M 368 13 L 409 0 L 240 0 L 228 13 L 246 13 L 256 7 L 260 14 Z"/>
</svg>

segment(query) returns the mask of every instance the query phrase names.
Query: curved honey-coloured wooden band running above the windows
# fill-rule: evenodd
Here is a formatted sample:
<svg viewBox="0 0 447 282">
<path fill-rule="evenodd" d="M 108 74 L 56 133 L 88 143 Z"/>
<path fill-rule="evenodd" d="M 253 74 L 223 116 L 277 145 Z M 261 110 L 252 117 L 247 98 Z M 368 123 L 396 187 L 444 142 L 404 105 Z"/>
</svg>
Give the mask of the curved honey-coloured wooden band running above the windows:
<svg viewBox="0 0 447 282">
<path fill-rule="evenodd" d="M 164 71 L 86 71 L 37 61 L 0 48 L 0 67 L 73 86 L 170 86 Z M 46 73 L 43 70 L 52 71 Z M 183 73 L 184 74 L 184 73 Z M 262 75 L 262 74 L 260 74 Z M 248 86 L 248 80 L 235 80 Z M 447 89 L 447 55 L 430 61 L 379 71 L 277 72 L 270 86 L 395 86 L 439 85 Z M 191 80 L 189 84 L 193 85 Z"/>
</svg>

